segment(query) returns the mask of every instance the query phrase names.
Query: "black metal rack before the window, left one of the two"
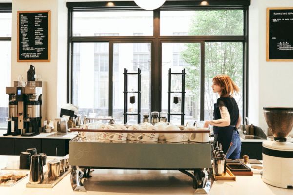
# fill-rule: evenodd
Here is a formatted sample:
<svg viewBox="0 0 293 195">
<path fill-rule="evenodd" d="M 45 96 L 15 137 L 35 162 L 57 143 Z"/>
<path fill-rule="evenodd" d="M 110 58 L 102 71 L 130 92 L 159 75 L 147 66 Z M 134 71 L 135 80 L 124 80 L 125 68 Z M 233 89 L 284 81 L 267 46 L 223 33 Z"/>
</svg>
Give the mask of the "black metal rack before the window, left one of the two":
<svg viewBox="0 0 293 195">
<path fill-rule="evenodd" d="M 127 123 L 128 115 L 137 115 L 137 123 L 141 120 L 141 70 L 138 68 L 137 73 L 128 73 L 126 68 L 124 69 L 124 124 Z M 128 91 L 128 76 L 137 75 L 137 91 Z M 137 94 L 137 113 L 128 113 L 128 94 Z"/>
</svg>

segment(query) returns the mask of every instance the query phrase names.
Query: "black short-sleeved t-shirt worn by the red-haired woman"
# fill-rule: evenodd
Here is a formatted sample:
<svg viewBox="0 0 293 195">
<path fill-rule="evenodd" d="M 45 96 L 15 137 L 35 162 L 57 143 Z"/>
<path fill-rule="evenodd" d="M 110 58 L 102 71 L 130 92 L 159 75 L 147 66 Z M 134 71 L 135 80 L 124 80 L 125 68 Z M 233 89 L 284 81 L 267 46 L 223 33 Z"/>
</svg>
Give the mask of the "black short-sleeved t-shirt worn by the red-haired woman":
<svg viewBox="0 0 293 195">
<path fill-rule="evenodd" d="M 220 97 L 217 99 L 217 105 L 214 112 L 214 120 L 221 119 L 219 107 L 225 106 L 230 115 L 230 125 L 236 125 L 239 118 L 239 109 L 235 98 L 233 97 Z M 218 133 L 219 127 L 214 127 L 214 133 Z"/>
</svg>

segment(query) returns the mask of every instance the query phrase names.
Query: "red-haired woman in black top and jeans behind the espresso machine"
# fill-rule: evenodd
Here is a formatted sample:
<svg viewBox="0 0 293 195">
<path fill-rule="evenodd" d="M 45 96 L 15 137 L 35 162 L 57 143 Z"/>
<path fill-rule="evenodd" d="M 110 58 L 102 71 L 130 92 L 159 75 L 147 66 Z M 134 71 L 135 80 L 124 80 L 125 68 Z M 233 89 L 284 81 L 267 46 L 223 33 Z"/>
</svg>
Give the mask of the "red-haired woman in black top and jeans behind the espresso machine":
<svg viewBox="0 0 293 195">
<path fill-rule="evenodd" d="M 224 153 L 233 142 L 226 157 L 238 159 L 241 152 L 241 141 L 237 127 L 240 125 L 241 117 L 233 94 L 238 93 L 239 88 L 228 75 L 218 75 L 212 81 L 212 91 L 218 93 L 220 98 L 214 104 L 214 120 L 205 121 L 204 127 L 213 125 L 214 143 L 216 141 L 221 143 Z"/>
</svg>

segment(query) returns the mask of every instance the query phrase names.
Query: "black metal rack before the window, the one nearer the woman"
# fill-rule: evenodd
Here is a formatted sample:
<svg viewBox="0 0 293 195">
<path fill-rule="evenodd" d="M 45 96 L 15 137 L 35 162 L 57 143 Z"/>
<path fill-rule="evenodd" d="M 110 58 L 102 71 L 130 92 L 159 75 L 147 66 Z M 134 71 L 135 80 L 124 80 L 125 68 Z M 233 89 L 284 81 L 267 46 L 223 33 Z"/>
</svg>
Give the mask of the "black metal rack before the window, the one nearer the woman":
<svg viewBox="0 0 293 195">
<path fill-rule="evenodd" d="M 171 91 L 171 79 L 172 75 L 181 75 L 181 91 Z M 170 122 L 171 115 L 180 115 L 181 116 L 181 125 L 184 124 L 184 98 L 185 98 L 185 68 L 182 70 L 182 73 L 172 73 L 171 69 L 169 69 L 168 78 L 169 78 L 169 86 L 168 86 L 168 122 Z M 171 113 L 171 94 L 172 93 L 180 93 L 181 94 L 181 113 Z"/>
</svg>

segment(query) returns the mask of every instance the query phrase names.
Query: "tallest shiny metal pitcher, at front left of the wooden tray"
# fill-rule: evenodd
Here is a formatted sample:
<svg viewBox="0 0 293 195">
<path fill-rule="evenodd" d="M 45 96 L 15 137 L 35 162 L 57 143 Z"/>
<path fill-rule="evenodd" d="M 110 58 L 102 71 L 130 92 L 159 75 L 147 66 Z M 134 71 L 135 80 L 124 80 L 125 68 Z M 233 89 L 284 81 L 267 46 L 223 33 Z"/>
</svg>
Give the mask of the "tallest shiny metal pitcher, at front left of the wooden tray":
<svg viewBox="0 0 293 195">
<path fill-rule="evenodd" d="M 42 183 L 44 180 L 44 171 L 42 165 L 42 156 L 37 154 L 31 157 L 29 182 L 31 184 Z"/>
</svg>

